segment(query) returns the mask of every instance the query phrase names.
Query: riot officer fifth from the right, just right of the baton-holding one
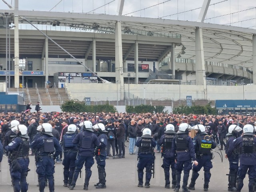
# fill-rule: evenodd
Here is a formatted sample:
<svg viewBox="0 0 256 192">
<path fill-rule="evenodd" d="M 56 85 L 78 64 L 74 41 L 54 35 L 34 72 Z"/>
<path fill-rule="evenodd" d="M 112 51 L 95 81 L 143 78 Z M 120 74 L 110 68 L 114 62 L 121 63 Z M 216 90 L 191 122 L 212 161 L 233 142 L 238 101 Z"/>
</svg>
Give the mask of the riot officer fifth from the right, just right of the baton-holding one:
<svg viewBox="0 0 256 192">
<path fill-rule="evenodd" d="M 172 153 L 172 140 L 176 133 L 174 132 L 174 125 L 168 124 L 165 127 L 164 135 L 160 138 L 160 146 L 162 146 L 162 157 L 163 164 L 162 168 L 164 168 L 164 178 L 165 178 L 165 188 L 170 188 L 170 167 L 172 169 L 172 188 L 175 188 L 176 185 L 176 174 L 175 174 L 175 158 Z"/>
</svg>

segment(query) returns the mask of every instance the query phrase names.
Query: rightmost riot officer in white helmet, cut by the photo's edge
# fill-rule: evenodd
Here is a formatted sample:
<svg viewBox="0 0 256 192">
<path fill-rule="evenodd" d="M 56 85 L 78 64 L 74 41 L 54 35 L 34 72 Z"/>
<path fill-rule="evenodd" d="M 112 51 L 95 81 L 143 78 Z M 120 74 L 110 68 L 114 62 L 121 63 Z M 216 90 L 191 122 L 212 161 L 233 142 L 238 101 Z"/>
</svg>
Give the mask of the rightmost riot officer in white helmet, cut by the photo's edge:
<svg viewBox="0 0 256 192">
<path fill-rule="evenodd" d="M 242 136 L 234 139 L 228 147 L 228 154 L 239 147 L 240 151 L 240 165 L 238 169 L 238 178 L 236 180 L 236 191 L 240 192 L 244 186 L 244 178 L 248 171 L 249 176 L 249 192 L 254 192 L 256 188 L 256 137 L 254 136 L 254 126 L 246 124 L 243 128 Z"/>
</svg>

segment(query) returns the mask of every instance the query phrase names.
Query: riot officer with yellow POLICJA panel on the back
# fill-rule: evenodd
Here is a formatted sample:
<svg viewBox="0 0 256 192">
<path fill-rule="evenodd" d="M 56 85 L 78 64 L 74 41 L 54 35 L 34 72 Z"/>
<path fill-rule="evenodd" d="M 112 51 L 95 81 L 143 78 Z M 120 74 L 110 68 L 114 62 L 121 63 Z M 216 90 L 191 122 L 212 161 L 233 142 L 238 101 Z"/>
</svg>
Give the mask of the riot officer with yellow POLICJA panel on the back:
<svg viewBox="0 0 256 192">
<path fill-rule="evenodd" d="M 196 152 L 196 161 L 198 165 L 193 165 L 192 177 L 188 189 L 195 190 L 196 179 L 198 178 L 198 172 L 204 167 L 204 191 L 208 191 L 209 182 L 211 178 L 210 169 L 212 168 L 212 153 L 211 150 L 216 148 L 216 143 L 211 136 L 205 130 L 205 126 L 198 124 L 193 126 L 196 131 L 196 136 L 193 139 L 194 148 Z"/>
</svg>

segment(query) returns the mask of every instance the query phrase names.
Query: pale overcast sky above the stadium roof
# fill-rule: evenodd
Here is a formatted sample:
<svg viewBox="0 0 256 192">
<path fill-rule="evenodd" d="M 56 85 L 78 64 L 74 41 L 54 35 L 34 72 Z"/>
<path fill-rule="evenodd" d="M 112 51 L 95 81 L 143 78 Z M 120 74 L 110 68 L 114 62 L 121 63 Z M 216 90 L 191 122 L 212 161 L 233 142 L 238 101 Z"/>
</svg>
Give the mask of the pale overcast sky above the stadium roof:
<svg viewBox="0 0 256 192">
<path fill-rule="evenodd" d="M 52 11 L 57 12 L 92 13 L 92 10 L 98 8 L 94 10 L 94 13 L 117 14 L 116 8 L 118 0 L 112 1 L 113 0 L 19 0 L 19 9 L 49 11 L 53 8 Z M 6 2 L 14 5 L 14 0 L 6 0 Z M 196 21 L 202 3 L 203 0 L 125 0 L 123 14 L 127 14 L 127 16 Z M 56 6 L 56 4 L 58 5 Z M 104 4 L 106 4 L 106 6 L 104 6 Z M 210 4 L 205 22 L 217 24 L 231 23 L 232 26 L 256 29 L 256 0 L 211 0 Z M 99 8 L 100 6 L 102 6 L 102 8 Z M 150 6 L 152 7 L 148 8 Z M 8 9 L 2 0 L 0 0 L 0 9 Z"/>
</svg>

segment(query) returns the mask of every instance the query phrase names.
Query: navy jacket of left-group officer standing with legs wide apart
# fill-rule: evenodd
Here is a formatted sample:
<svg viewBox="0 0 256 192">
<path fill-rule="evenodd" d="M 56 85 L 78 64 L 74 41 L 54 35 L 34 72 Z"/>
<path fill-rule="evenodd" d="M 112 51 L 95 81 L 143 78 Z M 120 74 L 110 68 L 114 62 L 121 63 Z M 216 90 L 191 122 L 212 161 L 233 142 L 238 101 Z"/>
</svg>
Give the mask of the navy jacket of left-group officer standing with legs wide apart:
<svg viewBox="0 0 256 192">
<path fill-rule="evenodd" d="M 100 146 L 100 141 L 96 134 L 88 130 L 78 133 L 73 143 L 78 145 L 78 154 L 80 156 L 93 156 L 94 149 Z"/>
</svg>

